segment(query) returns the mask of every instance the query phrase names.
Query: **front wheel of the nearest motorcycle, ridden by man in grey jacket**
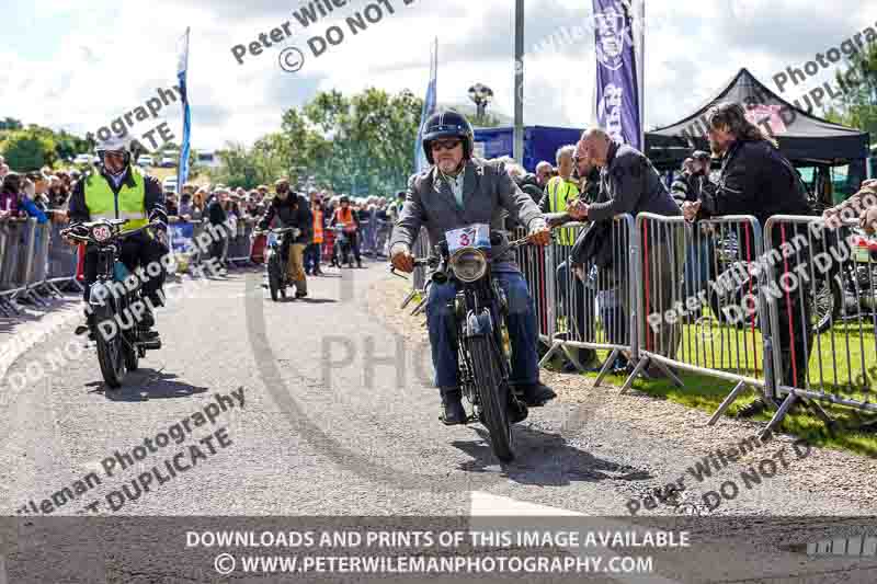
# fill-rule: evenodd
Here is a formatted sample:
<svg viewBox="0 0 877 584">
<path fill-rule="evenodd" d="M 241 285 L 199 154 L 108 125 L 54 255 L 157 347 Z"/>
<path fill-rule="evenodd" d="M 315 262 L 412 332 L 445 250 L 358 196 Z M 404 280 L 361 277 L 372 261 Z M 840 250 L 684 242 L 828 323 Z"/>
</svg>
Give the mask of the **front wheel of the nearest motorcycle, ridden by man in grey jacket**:
<svg viewBox="0 0 877 584">
<path fill-rule="evenodd" d="M 490 433 L 493 454 L 502 462 L 514 460 L 512 425 L 509 423 L 509 385 L 500 374 L 502 356 L 489 336 L 469 339 L 475 383 L 481 398 L 483 424 Z"/>
</svg>

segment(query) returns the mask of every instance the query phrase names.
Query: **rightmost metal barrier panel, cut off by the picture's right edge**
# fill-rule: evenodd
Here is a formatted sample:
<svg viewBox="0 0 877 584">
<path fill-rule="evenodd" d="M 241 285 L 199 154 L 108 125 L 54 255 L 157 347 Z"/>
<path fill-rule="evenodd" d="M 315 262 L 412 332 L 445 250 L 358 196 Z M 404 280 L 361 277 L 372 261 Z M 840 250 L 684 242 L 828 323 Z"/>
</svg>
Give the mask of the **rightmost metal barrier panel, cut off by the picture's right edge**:
<svg viewBox="0 0 877 584">
<path fill-rule="evenodd" d="M 801 398 L 877 412 L 877 244 L 856 221 L 774 216 L 765 245 L 776 397 L 785 397 L 765 433 Z"/>
</svg>

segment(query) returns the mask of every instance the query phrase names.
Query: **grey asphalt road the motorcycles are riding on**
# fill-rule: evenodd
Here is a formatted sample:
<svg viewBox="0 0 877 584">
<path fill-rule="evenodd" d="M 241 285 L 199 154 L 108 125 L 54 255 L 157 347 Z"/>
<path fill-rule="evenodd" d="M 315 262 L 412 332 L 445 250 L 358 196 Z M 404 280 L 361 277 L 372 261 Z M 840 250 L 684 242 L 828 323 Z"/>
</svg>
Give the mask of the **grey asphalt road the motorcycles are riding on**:
<svg viewBox="0 0 877 584">
<path fill-rule="evenodd" d="M 39 541 L 27 539 L 37 531 L 75 529 L 43 519 L 61 515 L 168 516 L 180 529 L 186 525 L 180 516 L 423 516 L 424 525 L 432 520 L 425 517 L 456 516 L 475 525 L 483 516 L 580 514 L 629 525 L 631 501 L 645 505 L 643 496 L 684 476 L 716 445 L 753 433 L 731 422 L 707 430 L 699 412 L 593 390 L 532 411 L 515 430 L 517 460 L 502 468 L 480 426 L 438 422 L 429 347 L 371 310 L 375 298 L 397 301 L 399 285 L 381 264 L 366 265 L 314 278 L 309 298 L 276 304 L 255 271 L 174 287 L 176 299 L 158 314 L 163 347 L 115 391 L 103 387 L 94 351 L 77 348 L 76 305 L 11 329 L 7 343 L 52 334 L 9 359 L 0 390 L 0 502 L 20 526 L 7 536 L 8 545 L 10 537 L 18 541 L 7 549 L 9 582 L 58 577 L 29 580 L 34 564 L 25 558 L 42 548 L 23 542 Z M 711 444 L 707 433 L 716 436 Z M 874 515 L 874 465 L 840 453 L 796 457 L 782 436 L 763 453 L 752 460 L 773 457 L 785 470 L 722 501 L 709 517 L 687 518 L 694 548 L 659 562 L 650 576 L 610 581 L 661 582 L 660 572 L 670 582 L 756 582 L 768 574 L 770 582 L 804 582 L 805 574 L 809 582 L 874 582 L 875 557 L 811 558 L 786 549 L 846 534 L 840 519 L 813 517 Z M 813 469 L 825 468 L 844 474 L 815 484 Z M 728 479 L 743 484 L 732 465 L 690 489 L 687 507 L 663 502 L 638 516 L 706 515 L 703 493 Z M 786 519 L 770 519 L 778 516 Z M 874 520 L 854 523 L 877 536 Z M 137 525 L 115 526 L 119 543 L 144 533 Z M 218 577 L 195 570 L 185 552 L 176 549 L 189 566 L 179 570 L 104 554 L 98 575 L 81 581 Z M 39 566 L 70 565 L 52 558 Z M 0 584 L 2 572 L 0 565 Z"/>
</svg>

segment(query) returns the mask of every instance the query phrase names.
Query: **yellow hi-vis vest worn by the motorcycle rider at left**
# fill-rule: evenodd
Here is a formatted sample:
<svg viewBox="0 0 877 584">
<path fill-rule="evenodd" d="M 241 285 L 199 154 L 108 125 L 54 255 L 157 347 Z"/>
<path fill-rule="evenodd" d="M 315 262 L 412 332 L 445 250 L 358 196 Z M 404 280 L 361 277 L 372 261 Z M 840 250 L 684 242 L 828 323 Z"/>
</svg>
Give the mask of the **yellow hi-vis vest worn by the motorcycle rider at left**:
<svg viewBox="0 0 877 584">
<path fill-rule="evenodd" d="M 128 219 L 123 232 L 140 228 L 149 222 L 146 214 L 146 183 L 140 170 L 130 168 L 134 186 L 123 182 L 118 196 L 113 193 L 110 181 L 100 173 L 93 173 L 86 181 L 86 206 L 91 220 Z"/>
</svg>

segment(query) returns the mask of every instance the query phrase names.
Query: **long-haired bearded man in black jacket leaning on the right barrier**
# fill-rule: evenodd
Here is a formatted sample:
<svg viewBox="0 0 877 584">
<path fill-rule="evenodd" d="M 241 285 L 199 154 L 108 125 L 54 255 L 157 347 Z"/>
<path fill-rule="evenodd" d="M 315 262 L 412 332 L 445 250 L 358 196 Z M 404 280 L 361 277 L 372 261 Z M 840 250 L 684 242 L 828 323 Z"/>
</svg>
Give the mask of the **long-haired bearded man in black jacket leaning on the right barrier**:
<svg viewBox="0 0 877 584">
<path fill-rule="evenodd" d="M 721 174 L 718 184 L 704 185 L 697 202 L 683 205 L 686 219 L 711 215 L 754 215 L 764 226 L 772 215 L 810 215 L 807 194 L 794 168 L 779 152 L 776 141 L 764 136 L 761 128 L 747 119 L 740 104 L 720 103 L 709 111 L 707 121 L 709 146 L 714 153 L 721 156 Z M 794 236 L 787 233 L 787 239 L 791 240 Z M 775 249 L 782 244 L 779 238 L 779 229 L 774 230 Z M 775 272 L 794 272 L 806 263 L 806 257 L 793 254 Z M 811 271 L 807 270 L 807 273 Z M 809 348 L 813 340 L 810 327 L 812 309 L 804 288 L 799 286 L 797 290 L 777 299 L 783 383 L 797 388 L 805 387 L 804 371 L 810 360 Z M 754 415 L 766 405 L 759 399 L 738 415 Z"/>
</svg>

